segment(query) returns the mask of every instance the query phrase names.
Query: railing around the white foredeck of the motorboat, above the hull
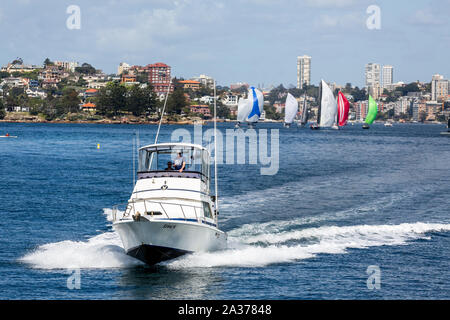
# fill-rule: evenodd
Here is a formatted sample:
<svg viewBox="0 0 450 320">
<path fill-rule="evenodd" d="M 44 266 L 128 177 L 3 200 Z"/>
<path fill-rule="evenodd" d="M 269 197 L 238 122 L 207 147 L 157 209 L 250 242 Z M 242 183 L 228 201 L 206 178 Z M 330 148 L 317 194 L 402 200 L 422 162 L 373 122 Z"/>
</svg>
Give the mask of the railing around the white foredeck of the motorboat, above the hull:
<svg viewBox="0 0 450 320">
<path fill-rule="evenodd" d="M 172 210 L 169 210 L 169 207 L 175 207 L 178 208 L 178 210 L 173 210 L 173 208 Z M 198 210 L 200 211 L 198 212 Z M 174 214 L 173 212 L 181 213 L 181 215 Z M 190 204 L 178 204 L 173 202 L 155 201 L 148 199 L 131 199 L 127 203 L 113 206 L 112 220 L 113 222 L 116 222 L 129 219 L 138 220 L 141 216 L 162 216 L 167 219 L 177 218 L 184 219 L 186 221 L 196 219 L 200 222 L 204 220 L 204 215 L 202 214 L 202 212 L 202 205 L 196 206 Z"/>
</svg>

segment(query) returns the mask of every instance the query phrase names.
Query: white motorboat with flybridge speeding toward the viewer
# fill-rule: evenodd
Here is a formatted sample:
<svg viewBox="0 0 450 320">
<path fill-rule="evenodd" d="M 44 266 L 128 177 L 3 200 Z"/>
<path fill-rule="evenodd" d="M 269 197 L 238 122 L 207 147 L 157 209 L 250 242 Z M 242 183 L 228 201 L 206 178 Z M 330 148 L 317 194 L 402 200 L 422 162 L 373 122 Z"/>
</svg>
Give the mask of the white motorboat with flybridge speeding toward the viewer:
<svg viewBox="0 0 450 320">
<path fill-rule="evenodd" d="M 184 169 L 171 165 L 179 155 Z M 200 145 L 139 148 L 133 193 L 123 210 L 121 205 L 113 208 L 113 227 L 126 253 L 154 265 L 187 253 L 225 249 L 227 234 L 219 229 L 210 179 L 210 154 Z"/>
</svg>

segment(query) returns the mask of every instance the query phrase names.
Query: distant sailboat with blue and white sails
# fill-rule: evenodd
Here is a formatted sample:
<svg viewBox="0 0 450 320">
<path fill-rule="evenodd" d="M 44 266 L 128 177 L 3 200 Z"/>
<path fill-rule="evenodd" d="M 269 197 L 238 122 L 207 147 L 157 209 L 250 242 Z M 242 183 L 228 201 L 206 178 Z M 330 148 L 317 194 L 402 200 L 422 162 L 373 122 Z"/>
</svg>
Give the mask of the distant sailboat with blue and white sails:
<svg viewBox="0 0 450 320">
<path fill-rule="evenodd" d="M 247 122 L 249 128 L 253 128 L 253 124 L 258 122 L 263 111 L 264 96 L 262 92 L 255 87 L 250 87 L 247 99 L 242 99 L 242 102 L 239 99 L 236 127 L 239 128 L 241 123 Z"/>
</svg>

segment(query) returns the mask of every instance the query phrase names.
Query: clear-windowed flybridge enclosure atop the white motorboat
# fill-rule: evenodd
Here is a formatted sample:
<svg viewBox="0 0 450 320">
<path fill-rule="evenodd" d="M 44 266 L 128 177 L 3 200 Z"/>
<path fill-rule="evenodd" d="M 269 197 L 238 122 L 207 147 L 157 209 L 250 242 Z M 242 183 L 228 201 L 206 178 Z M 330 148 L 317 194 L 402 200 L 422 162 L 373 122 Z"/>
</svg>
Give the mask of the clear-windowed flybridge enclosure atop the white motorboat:
<svg viewBox="0 0 450 320">
<path fill-rule="evenodd" d="M 198 172 L 209 179 L 209 153 L 191 146 L 152 146 L 139 151 L 139 172 Z"/>
</svg>

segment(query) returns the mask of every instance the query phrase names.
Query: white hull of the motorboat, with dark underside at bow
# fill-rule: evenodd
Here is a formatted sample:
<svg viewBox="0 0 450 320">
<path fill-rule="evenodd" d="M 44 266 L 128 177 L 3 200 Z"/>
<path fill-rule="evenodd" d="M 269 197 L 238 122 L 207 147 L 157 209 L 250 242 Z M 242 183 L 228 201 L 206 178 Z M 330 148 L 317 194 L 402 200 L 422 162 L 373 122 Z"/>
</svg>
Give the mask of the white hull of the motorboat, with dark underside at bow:
<svg viewBox="0 0 450 320">
<path fill-rule="evenodd" d="M 206 224 L 186 220 L 124 220 L 114 223 L 126 253 L 148 265 L 193 252 L 226 249 L 225 232 Z"/>
</svg>

